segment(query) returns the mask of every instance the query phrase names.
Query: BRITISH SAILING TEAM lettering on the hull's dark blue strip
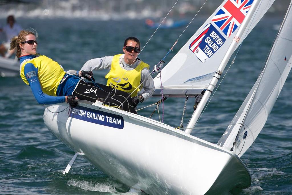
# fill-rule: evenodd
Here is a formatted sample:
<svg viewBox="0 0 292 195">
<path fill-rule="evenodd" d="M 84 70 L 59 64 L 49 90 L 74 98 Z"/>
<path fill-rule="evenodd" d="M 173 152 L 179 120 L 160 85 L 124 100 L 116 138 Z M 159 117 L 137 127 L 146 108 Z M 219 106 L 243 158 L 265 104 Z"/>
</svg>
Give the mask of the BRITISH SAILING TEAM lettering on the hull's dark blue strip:
<svg viewBox="0 0 292 195">
<path fill-rule="evenodd" d="M 106 122 L 110 122 L 110 123 L 115 123 L 115 124 L 121 125 L 121 119 L 113 118 L 113 117 L 110 117 L 110 116 L 101 115 L 101 114 L 98 114 L 98 113 L 93 113 L 93 112 L 90 112 L 90 111 L 79 110 L 77 108 L 73 108 L 72 109 L 72 114 L 76 114 L 76 115 L 79 115 L 79 116 L 83 116 L 83 117 L 87 117 L 87 118 L 91 118 L 91 119 L 95 119 L 95 120 L 106 121 Z"/>
</svg>

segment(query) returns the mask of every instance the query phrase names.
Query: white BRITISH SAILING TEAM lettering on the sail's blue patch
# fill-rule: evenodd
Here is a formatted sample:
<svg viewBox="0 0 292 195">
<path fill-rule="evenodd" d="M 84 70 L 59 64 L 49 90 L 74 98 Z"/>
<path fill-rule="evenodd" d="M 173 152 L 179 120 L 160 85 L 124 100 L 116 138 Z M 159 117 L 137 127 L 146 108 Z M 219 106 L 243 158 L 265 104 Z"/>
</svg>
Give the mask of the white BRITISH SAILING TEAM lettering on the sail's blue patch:
<svg viewBox="0 0 292 195">
<path fill-rule="evenodd" d="M 224 41 L 214 32 L 212 31 L 210 33 L 210 35 L 205 39 L 205 42 L 210 46 L 208 47 L 207 45 L 205 46 L 205 48 L 203 49 L 203 51 L 209 56 L 211 57 L 214 52 L 213 51 L 217 51 L 217 49 L 219 49 L 219 46 L 221 46 Z M 212 51 L 213 49 L 213 51 Z"/>
</svg>

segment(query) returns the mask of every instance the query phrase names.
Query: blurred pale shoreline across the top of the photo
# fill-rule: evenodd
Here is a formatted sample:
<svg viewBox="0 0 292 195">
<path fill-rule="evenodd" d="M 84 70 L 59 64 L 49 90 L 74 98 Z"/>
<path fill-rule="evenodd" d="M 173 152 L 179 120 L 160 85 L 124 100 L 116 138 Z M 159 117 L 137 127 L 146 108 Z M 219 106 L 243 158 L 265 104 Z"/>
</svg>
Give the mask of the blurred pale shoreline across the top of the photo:
<svg viewBox="0 0 292 195">
<path fill-rule="evenodd" d="M 0 18 L 83 18 L 123 20 L 165 17 L 192 18 L 206 0 L 0 0 Z M 208 0 L 199 15 L 210 15 L 223 1 Z M 289 0 L 277 0 L 267 16 L 282 16 Z"/>
</svg>

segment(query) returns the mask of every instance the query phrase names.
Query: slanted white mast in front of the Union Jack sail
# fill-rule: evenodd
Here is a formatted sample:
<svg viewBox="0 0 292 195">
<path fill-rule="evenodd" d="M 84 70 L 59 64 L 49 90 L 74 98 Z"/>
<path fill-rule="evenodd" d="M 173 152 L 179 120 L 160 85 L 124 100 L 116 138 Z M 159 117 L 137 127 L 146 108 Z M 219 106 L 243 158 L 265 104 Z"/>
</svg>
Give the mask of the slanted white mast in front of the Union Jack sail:
<svg viewBox="0 0 292 195">
<path fill-rule="evenodd" d="M 258 8 L 258 4 L 260 3 L 260 0 L 254 0 L 253 4 L 251 5 L 250 10 L 248 11 L 246 17 L 244 18 L 244 20 L 242 21 L 239 30 L 237 31 L 236 35 L 234 36 L 232 43 L 229 46 L 229 49 L 227 50 L 224 58 L 222 59 L 217 71 L 214 74 L 213 79 L 211 80 L 211 82 L 209 83 L 199 105 L 197 106 L 197 109 L 194 111 L 189 123 L 187 124 L 187 127 L 185 129 L 185 132 L 190 134 L 192 132 L 192 129 L 194 128 L 194 126 L 196 125 L 199 116 L 201 115 L 211 93 L 213 92 L 213 89 L 215 88 L 218 80 L 220 79 L 220 76 L 222 75 L 224 68 L 226 67 L 231 55 L 233 54 L 233 52 L 235 51 L 237 44 L 239 43 L 239 40 L 241 38 L 241 36 L 243 35 L 246 27 L 248 26 L 249 22 L 252 19 L 253 14 L 256 12 L 257 8 Z"/>
</svg>

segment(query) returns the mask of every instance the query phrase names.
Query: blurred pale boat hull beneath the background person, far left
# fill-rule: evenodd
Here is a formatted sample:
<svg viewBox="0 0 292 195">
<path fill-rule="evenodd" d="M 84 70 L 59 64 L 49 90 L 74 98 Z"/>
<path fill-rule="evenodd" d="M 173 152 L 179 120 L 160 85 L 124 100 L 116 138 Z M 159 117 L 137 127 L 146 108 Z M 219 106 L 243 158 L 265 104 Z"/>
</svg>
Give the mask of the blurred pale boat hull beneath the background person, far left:
<svg viewBox="0 0 292 195">
<path fill-rule="evenodd" d="M 0 76 L 15 77 L 19 75 L 19 61 L 11 58 L 0 57 Z"/>
</svg>

